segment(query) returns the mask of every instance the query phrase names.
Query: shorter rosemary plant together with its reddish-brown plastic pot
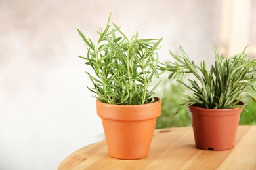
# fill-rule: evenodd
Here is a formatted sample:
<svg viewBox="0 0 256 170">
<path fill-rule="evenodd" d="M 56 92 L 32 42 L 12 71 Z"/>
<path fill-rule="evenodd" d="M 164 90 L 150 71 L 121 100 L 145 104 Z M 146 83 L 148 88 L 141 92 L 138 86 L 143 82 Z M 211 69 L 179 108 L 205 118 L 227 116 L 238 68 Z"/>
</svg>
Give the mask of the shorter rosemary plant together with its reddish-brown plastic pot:
<svg viewBox="0 0 256 170">
<path fill-rule="evenodd" d="M 171 71 L 169 78 L 192 91 L 192 95 L 182 94 L 186 102 L 176 114 L 186 107 L 190 110 L 197 148 L 228 150 L 234 147 L 240 113 L 246 110 L 240 101 L 242 92 L 255 101 L 252 92 L 256 87 L 256 60 L 247 59 L 245 49 L 242 54 L 225 58 L 219 56 L 215 47 L 215 64 L 207 70 L 205 61 L 196 65 L 180 46 L 182 56 L 170 52 L 175 61 L 162 63 L 158 68 Z M 185 74 L 193 75 L 194 79 L 183 80 Z"/>
</svg>

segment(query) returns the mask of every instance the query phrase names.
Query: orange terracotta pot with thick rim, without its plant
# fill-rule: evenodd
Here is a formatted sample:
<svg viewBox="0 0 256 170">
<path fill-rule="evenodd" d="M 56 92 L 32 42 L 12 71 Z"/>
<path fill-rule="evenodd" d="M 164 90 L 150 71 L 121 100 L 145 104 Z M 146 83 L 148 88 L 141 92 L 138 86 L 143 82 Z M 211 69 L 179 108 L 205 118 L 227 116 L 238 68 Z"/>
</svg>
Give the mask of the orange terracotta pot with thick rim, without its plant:
<svg viewBox="0 0 256 170">
<path fill-rule="evenodd" d="M 124 160 L 148 156 L 156 118 L 161 114 L 161 99 L 144 105 L 110 105 L 96 101 L 108 153 Z"/>
</svg>

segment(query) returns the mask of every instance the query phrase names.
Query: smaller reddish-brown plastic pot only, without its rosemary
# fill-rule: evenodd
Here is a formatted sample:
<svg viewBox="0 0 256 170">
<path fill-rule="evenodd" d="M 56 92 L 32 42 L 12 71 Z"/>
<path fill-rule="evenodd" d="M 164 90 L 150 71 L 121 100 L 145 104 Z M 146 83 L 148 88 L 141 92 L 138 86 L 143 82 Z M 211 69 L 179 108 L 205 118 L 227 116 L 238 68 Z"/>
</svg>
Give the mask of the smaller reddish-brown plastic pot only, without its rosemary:
<svg viewBox="0 0 256 170">
<path fill-rule="evenodd" d="M 234 147 L 242 109 L 205 109 L 195 106 L 188 108 L 197 148 L 229 150 Z"/>
</svg>

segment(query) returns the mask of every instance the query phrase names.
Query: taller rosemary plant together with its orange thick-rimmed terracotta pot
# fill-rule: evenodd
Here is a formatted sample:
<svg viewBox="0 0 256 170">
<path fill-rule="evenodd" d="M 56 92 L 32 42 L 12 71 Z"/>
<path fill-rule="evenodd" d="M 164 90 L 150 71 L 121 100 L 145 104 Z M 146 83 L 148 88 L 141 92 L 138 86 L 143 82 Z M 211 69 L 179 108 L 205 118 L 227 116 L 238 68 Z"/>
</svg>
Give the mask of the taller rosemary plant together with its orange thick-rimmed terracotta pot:
<svg viewBox="0 0 256 170">
<path fill-rule="evenodd" d="M 154 92 L 160 84 L 155 50 L 161 39 L 138 39 L 138 33 L 128 39 L 116 24 L 110 29 L 110 16 L 96 44 L 77 29 L 88 46 L 87 56 L 79 57 L 94 72 L 86 73 L 93 83 L 89 90 L 96 93 L 108 153 L 119 159 L 144 158 L 161 114 L 161 99 Z M 151 86 L 154 78 L 159 81 Z"/>
</svg>

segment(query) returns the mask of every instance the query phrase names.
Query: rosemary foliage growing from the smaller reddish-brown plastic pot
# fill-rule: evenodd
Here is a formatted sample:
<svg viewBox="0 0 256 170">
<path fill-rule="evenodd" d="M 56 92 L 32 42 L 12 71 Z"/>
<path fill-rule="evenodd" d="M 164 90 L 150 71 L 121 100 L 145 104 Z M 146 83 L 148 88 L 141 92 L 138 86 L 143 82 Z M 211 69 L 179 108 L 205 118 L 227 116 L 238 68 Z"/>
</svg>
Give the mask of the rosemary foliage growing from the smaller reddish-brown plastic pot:
<svg viewBox="0 0 256 170">
<path fill-rule="evenodd" d="M 245 109 L 238 104 L 242 92 L 247 92 L 255 101 L 256 97 L 251 92 L 255 92 L 256 87 L 256 60 L 247 59 L 245 49 L 242 54 L 225 58 L 223 55 L 219 56 L 215 47 L 215 65 L 211 65 L 209 71 L 206 69 L 205 61 L 201 61 L 200 66 L 196 65 L 181 46 L 182 56 L 170 51 L 175 62 L 161 63 L 158 69 L 163 72 L 171 71 L 169 78 L 175 78 L 193 92 L 192 95 L 182 94 L 186 102 L 180 105 L 175 114 L 190 105 L 209 109 Z M 192 74 L 196 79 L 188 79 L 188 82 L 185 82 L 182 80 L 184 74 Z"/>
</svg>

